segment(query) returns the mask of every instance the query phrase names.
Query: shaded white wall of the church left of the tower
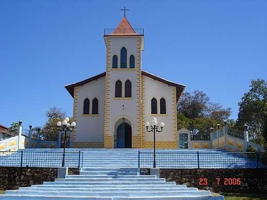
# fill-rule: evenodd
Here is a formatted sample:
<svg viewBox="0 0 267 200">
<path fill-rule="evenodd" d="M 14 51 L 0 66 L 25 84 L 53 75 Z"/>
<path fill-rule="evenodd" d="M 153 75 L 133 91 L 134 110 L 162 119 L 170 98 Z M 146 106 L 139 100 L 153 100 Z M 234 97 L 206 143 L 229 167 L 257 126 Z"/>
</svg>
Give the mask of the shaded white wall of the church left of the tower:
<svg viewBox="0 0 267 200">
<path fill-rule="evenodd" d="M 83 101 L 90 100 L 90 114 L 92 114 L 92 101 L 98 99 L 99 116 L 83 116 Z M 105 77 L 78 86 L 77 96 L 77 127 L 75 142 L 102 142 L 104 128 L 105 106 Z"/>
</svg>

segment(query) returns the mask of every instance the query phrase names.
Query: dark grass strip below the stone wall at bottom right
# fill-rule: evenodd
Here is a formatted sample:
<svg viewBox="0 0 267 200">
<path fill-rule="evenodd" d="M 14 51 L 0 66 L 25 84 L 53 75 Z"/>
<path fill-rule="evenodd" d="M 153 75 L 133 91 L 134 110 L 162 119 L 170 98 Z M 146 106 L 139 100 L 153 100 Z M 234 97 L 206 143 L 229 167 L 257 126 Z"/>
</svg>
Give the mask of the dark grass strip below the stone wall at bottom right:
<svg viewBox="0 0 267 200">
<path fill-rule="evenodd" d="M 225 200 L 267 200 L 267 194 L 219 193 Z"/>
</svg>

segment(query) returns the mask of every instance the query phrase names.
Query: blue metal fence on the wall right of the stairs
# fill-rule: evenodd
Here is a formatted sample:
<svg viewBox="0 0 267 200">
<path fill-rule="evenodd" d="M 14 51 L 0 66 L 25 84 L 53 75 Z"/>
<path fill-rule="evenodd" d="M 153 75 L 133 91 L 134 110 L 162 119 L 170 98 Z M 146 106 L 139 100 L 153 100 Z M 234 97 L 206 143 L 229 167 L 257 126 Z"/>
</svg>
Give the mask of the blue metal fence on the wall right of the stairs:
<svg viewBox="0 0 267 200">
<path fill-rule="evenodd" d="M 138 167 L 153 167 L 153 152 L 138 153 Z M 267 153 L 257 152 L 156 152 L 159 168 L 265 168 Z"/>
</svg>

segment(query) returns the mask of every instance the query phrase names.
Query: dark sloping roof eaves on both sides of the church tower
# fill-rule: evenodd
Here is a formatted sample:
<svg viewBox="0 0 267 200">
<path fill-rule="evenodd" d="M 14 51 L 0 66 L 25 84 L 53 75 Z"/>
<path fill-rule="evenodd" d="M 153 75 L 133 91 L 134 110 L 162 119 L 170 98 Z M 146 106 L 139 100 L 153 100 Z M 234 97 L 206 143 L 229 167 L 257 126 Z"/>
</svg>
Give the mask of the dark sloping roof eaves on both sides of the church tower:
<svg viewBox="0 0 267 200">
<path fill-rule="evenodd" d="M 184 89 L 186 87 L 183 84 L 174 83 L 174 82 L 168 81 L 166 79 L 163 79 L 161 77 L 158 77 L 156 75 L 153 75 L 153 74 L 151 74 L 151 73 L 149 73 L 147 71 L 144 71 L 144 70 L 142 70 L 142 75 L 147 76 L 147 77 L 150 77 L 150 78 L 152 78 L 154 80 L 157 80 L 159 82 L 165 83 L 167 85 L 171 85 L 171 86 L 176 87 L 176 101 L 178 101 L 180 99 L 180 97 L 183 94 Z M 94 81 L 94 80 L 97 80 L 97 79 L 100 79 L 101 77 L 104 77 L 104 76 L 106 76 L 106 72 L 103 72 L 101 74 L 98 74 L 96 76 L 93 76 L 93 77 L 91 77 L 89 79 L 85 79 L 85 80 L 80 81 L 80 82 L 77 82 L 77 83 L 72 83 L 72 84 L 66 85 L 65 88 L 67 89 L 67 91 L 71 95 L 71 97 L 73 97 L 74 96 L 74 87 L 83 85 L 85 83 L 89 83 L 89 82 Z"/>
</svg>

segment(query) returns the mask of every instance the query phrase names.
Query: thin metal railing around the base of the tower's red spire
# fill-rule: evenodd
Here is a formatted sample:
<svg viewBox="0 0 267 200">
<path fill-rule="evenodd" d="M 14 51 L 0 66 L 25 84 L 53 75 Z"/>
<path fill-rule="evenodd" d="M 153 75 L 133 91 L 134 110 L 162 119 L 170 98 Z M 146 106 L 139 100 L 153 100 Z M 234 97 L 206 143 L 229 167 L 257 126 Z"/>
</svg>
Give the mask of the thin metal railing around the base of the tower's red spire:
<svg viewBox="0 0 267 200">
<path fill-rule="evenodd" d="M 119 28 L 104 29 L 104 36 L 107 35 L 144 35 L 143 28 Z"/>
</svg>

